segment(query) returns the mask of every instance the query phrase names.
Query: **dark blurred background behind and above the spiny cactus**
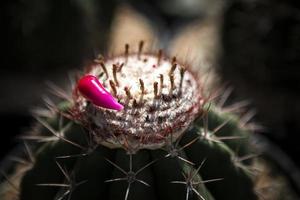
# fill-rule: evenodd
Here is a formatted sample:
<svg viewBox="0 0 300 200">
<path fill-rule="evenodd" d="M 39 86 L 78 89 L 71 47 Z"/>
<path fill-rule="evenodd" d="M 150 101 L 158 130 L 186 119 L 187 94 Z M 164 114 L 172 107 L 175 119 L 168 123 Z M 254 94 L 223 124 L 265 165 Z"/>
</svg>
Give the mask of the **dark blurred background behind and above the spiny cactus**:
<svg viewBox="0 0 300 200">
<path fill-rule="evenodd" d="M 249 100 L 260 134 L 300 166 L 300 2 L 293 0 L 2 0 L 0 157 L 49 94 L 98 53 L 164 48 L 212 90 Z"/>
</svg>

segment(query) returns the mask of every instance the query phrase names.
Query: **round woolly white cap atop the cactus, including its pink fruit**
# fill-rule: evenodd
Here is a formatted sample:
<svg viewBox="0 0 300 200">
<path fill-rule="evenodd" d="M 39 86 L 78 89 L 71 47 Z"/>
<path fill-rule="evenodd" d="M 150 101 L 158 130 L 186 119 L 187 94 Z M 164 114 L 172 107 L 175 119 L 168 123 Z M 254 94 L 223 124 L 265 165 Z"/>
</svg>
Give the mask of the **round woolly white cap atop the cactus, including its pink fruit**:
<svg viewBox="0 0 300 200">
<path fill-rule="evenodd" d="M 187 66 L 161 50 L 128 50 L 126 45 L 122 55 L 98 58 L 87 70 L 74 89 L 74 118 L 98 144 L 130 152 L 160 148 L 171 136 L 176 140 L 201 112 L 201 86 Z"/>
</svg>

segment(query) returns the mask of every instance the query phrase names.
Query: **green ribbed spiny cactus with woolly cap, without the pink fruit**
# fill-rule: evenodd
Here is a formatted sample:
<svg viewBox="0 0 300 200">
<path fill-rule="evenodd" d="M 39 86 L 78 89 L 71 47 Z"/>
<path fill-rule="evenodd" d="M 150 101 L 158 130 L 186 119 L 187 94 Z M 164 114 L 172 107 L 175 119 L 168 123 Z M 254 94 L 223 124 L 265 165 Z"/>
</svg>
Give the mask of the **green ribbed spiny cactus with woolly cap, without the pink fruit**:
<svg viewBox="0 0 300 200">
<path fill-rule="evenodd" d="M 82 74 L 123 109 L 96 105 L 78 85 L 48 102 L 22 137 L 30 159 L 3 173 L 1 199 L 258 199 L 249 131 L 205 96 L 188 64 L 143 44 Z"/>
</svg>

